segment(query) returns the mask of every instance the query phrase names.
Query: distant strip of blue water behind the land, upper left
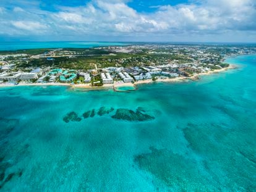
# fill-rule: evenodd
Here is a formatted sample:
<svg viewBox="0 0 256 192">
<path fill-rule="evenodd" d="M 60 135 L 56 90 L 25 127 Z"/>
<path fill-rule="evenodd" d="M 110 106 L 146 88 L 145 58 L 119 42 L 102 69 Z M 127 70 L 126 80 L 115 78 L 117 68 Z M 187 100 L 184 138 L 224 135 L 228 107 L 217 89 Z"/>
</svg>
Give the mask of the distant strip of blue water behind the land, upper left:
<svg viewBox="0 0 256 192">
<path fill-rule="evenodd" d="M 100 46 L 124 46 L 127 43 L 114 42 L 30 42 L 14 41 L 0 42 L 0 51 L 15 51 L 22 49 L 43 49 L 43 48 L 94 48 Z"/>
</svg>

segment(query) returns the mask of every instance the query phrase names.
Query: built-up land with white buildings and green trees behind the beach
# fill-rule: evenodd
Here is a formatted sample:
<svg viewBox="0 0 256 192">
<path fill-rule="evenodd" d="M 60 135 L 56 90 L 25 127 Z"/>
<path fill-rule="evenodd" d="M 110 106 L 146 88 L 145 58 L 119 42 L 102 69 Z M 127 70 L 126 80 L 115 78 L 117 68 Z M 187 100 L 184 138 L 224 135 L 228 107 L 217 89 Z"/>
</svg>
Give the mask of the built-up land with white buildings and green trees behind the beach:
<svg viewBox="0 0 256 192">
<path fill-rule="evenodd" d="M 255 53 L 253 46 L 184 44 L 2 51 L 0 83 L 98 87 L 175 80 L 226 69 L 226 57 Z"/>
</svg>

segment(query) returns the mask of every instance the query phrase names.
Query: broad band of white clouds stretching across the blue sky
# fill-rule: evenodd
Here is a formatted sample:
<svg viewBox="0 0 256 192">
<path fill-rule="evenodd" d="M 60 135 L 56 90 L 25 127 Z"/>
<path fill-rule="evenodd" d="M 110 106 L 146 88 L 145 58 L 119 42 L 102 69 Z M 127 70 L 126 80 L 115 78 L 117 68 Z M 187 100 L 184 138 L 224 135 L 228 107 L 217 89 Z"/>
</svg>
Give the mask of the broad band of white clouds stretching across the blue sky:
<svg viewBox="0 0 256 192">
<path fill-rule="evenodd" d="M 198 2 L 198 0 L 197 0 Z M 2 28 L 12 33 L 48 35 L 154 36 L 173 34 L 221 34 L 227 31 L 256 33 L 254 0 L 207 0 L 199 4 L 158 6 L 155 12 L 140 13 L 122 0 L 92 0 L 80 7 L 59 7 L 49 12 L 0 7 Z M 18 30 L 19 29 L 19 30 Z M 65 30 L 63 30 L 65 29 Z M 1 34 L 10 31 L 1 29 Z M 150 39 L 149 39 L 150 40 Z"/>
</svg>

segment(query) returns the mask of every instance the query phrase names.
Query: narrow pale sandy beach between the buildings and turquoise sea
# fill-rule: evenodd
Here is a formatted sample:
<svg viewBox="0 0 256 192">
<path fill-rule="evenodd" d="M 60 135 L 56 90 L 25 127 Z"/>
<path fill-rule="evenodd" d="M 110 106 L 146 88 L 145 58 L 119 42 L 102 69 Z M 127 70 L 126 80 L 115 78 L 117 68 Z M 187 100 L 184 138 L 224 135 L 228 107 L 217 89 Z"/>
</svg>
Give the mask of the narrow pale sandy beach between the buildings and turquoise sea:
<svg viewBox="0 0 256 192">
<path fill-rule="evenodd" d="M 70 83 L 19 83 L 18 85 L 14 84 L 0 84 L 1 87 L 12 87 L 12 86 L 69 86 L 70 88 L 84 88 L 85 90 L 104 90 L 106 88 L 113 88 L 113 90 L 116 90 L 116 88 L 120 86 L 133 86 L 137 87 L 137 85 L 140 84 L 148 84 L 148 83 L 155 83 L 155 82 L 168 82 L 168 83 L 177 83 L 177 82 L 182 82 L 186 80 L 198 80 L 200 76 L 203 75 L 211 75 L 214 73 L 220 73 L 220 72 L 225 72 L 230 69 L 237 69 L 238 66 L 235 64 L 229 64 L 229 67 L 223 68 L 223 69 L 216 69 L 212 70 L 209 72 L 204 72 L 204 73 L 198 73 L 192 77 L 176 77 L 176 78 L 164 78 L 164 79 L 157 79 L 155 81 L 153 80 L 140 80 L 140 81 L 135 81 L 134 83 L 117 83 L 114 82 L 113 84 L 105 84 L 103 86 L 92 86 L 91 83 L 87 84 L 77 84 L 77 85 L 72 85 Z"/>
</svg>

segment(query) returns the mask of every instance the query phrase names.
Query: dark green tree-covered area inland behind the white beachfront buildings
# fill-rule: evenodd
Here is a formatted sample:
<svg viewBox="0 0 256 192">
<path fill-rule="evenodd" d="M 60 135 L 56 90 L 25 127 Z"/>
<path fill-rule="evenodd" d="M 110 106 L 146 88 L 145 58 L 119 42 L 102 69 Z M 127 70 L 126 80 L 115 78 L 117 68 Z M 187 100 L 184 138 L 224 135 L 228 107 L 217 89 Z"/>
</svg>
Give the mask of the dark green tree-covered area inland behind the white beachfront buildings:
<svg viewBox="0 0 256 192">
<path fill-rule="evenodd" d="M 214 63 L 221 67 L 227 67 L 222 64 L 223 56 L 220 52 L 230 52 L 228 48 L 205 48 L 197 47 L 199 51 L 207 49 L 208 54 L 219 56 L 208 56 L 205 64 Z M 0 51 L 0 55 L 6 54 L 27 54 L 27 56 L 9 56 L 4 61 L 16 64 L 17 69 L 27 67 L 58 67 L 64 69 L 88 70 L 101 69 L 105 67 L 135 67 L 140 65 L 163 65 L 171 61 L 177 64 L 190 63 L 198 61 L 200 56 L 190 53 L 190 49 L 180 48 L 177 51 L 174 48 L 169 49 L 138 49 L 137 51 L 122 53 L 114 52 L 113 49 L 92 48 L 64 48 L 64 49 L 29 49 L 22 51 Z M 52 57 L 49 59 L 49 57 Z M 210 67 L 211 69 L 215 67 Z M 218 67 L 216 67 L 218 68 Z"/>
</svg>

